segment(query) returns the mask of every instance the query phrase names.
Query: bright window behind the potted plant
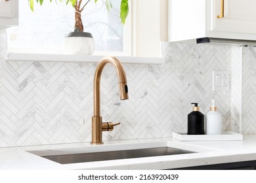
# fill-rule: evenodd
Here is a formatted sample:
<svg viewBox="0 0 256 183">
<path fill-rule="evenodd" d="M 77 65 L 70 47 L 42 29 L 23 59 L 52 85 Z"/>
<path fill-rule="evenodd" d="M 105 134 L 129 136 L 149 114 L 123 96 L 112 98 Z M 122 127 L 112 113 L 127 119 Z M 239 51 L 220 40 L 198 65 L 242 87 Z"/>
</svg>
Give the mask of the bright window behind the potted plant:
<svg viewBox="0 0 256 183">
<path fill-rule="evenodd" d="M 9 52 L 62 53 L 63 37 L 74 31 L 74 8 L 56 2 L 44 1 L 41 7 L 35 4 L 32 12 L 27 1 L 20 1 L 19 26 L 7 30 Z M 121 24 L 120 3 L 112 1 L 108 13 L 104 0 L 90 1 L 82 12 L 84 31 L 95 39 L 95 54 L 131 55 L 131 18 Z"/>
</svg>

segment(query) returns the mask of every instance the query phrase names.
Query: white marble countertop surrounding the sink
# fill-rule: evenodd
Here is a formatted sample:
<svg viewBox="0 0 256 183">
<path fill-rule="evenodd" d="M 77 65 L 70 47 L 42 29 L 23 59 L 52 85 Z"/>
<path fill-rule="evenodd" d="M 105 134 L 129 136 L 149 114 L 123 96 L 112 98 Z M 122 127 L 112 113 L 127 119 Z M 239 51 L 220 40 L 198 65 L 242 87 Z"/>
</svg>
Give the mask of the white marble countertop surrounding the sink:
<svg viewBox="0 0 256 183">
<path fill-rule="evenodd" d="M 123 148 L 171 146 L 197 153 L 148 158 L 131 158 L 87 163 L 60 164 L 27 151 L 58 150 L 65 153 L 105 151 Z M 51 152 L 51 151 L 48 151 Z M 90 143 L 53 144 L 0 148 L 0 169 L 175 169 L 199 165 L 250 161 L 256 159 L 256 135 L 244 135 L 243 141 L 186 141 L 171 138 L 108 141 L 103 145 Z"/>
</svg>

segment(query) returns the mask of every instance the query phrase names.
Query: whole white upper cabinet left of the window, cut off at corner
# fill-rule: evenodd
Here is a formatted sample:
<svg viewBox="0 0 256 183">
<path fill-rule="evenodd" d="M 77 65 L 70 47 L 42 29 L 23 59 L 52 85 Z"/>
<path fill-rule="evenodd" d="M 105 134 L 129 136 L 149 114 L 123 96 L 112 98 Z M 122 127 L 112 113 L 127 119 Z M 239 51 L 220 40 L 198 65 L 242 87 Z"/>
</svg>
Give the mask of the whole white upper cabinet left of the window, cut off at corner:
<svg viewBox="0 0 256 183">
<path fill-rule="evenodd" d="M 0 26 L 18 25 L 18 0 L 0 0 Z"/>
</svg>

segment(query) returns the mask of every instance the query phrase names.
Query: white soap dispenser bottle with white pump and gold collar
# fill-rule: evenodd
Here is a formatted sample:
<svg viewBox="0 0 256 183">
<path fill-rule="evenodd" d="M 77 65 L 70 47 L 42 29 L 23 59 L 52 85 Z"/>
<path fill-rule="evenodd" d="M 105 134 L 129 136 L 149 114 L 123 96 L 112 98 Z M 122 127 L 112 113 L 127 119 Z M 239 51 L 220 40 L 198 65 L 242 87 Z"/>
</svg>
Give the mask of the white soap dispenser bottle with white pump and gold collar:
<svg viewBox="0 0 256 183">
<path fill-rule="evenodd" d="M 206 135 L 218 135 L 222 132 L 222 116 L 217 111 L 215 106 L 215 99 L 211 99 L 213 103 L 210 107 L 210 111 L 206 114 L 205 134 Z"/>
</svg>

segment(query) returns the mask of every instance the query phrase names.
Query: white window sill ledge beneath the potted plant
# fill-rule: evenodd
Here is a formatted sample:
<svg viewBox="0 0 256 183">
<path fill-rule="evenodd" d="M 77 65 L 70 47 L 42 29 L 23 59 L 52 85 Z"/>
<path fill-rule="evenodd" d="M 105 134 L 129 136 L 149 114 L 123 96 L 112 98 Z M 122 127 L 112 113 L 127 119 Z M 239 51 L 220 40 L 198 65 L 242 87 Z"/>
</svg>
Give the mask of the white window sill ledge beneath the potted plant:
<svg viewBox="0 0 256 183">
<path fill-rule="evenodd" d="M 6 61 L 61 61 L 97 63 L 103 57 L 104 56 L 7 53 Z M 165 61 L 164 58 L 146 58 L 131 56 L 116 56 L 116 58 L 118 58 L 121 63 L 161 64 Z"/>
</svg>

